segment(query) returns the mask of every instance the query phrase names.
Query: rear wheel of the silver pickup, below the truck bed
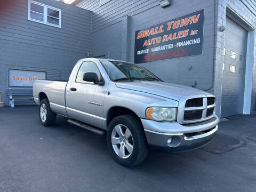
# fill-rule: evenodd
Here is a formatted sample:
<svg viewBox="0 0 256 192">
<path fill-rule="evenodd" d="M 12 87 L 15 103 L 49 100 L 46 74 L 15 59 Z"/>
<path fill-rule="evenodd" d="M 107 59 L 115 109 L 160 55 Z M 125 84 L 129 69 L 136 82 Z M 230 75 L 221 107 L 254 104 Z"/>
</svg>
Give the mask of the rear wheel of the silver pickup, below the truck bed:
<svg viewBox="0 0 256 192">
<path fill-rule="evenodd" d="M 39 120 L 44 126 L 51 126 L 55 123 L 56 113 L 50 108 L 49 100 L 43 99 L 39 105 Z"/>
</svg>

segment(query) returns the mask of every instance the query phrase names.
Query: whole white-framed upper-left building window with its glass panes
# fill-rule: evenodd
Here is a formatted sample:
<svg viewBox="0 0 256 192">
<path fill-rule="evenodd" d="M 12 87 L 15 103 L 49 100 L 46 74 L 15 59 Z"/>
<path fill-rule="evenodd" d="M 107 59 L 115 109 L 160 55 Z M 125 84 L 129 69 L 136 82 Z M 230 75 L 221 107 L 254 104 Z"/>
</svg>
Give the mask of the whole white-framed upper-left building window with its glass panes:
<svg viewBox="0 0 256 192">
<path fill-rule="evenodd" d="M 28 20 L 61 27 L 61 10 L 28 0 Z"/>
</svg>

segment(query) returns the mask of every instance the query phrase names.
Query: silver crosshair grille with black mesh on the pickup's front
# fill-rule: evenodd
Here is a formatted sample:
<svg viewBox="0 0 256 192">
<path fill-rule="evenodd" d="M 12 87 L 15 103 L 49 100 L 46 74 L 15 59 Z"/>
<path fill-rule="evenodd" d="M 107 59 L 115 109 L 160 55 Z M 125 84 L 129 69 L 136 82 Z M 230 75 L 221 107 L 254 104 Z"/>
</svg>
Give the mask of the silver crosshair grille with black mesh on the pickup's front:
<svg viewBox="0 0 256 192">
<path fill-rule="evenodd" d="M 182 112 L 183 111 L 183 112 Z M 181 124 L 206 121 L 215 115 L 215 97 L 181 99 L 177 121 Z"/>
</svg>

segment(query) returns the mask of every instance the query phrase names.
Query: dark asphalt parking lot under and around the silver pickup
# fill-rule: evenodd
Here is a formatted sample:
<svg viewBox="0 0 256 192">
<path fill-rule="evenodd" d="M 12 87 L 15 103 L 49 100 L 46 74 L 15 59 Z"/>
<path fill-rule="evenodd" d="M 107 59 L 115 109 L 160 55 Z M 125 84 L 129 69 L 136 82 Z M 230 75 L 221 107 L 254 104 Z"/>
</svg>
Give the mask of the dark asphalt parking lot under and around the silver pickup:
<svg viewBox="0 0 256 192">
<path fill-rule="evenodd" d="M 106 138 L 58 116 L 39 123 L 38 107 L 0 108 L 0 191 L 255 191 L 256 114 L 219 124 L 207 146 L 149 152 L 140 165 L 113 161 Z"/>
</svg>

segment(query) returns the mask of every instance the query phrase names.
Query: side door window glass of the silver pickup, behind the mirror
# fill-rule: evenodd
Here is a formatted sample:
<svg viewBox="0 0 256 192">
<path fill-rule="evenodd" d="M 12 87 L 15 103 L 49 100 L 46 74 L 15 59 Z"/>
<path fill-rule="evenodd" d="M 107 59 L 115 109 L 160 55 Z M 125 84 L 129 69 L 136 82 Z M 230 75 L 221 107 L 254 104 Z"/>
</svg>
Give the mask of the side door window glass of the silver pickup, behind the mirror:
<svg viewBox="0 0 256 192">
<path fill-rule="evenodd" d="M 98 75 L 98 77 L 100 76 L 100 71 L 98 67 L 94 62 L 91 62 L 91 61 L 85 61 L 82 63 L 77 73 L 77 77 L 76 77 L 77 83 L 86 83 L 85 81 L 83 81 L 84 73 L 95 73 Z"/>
</svg>

